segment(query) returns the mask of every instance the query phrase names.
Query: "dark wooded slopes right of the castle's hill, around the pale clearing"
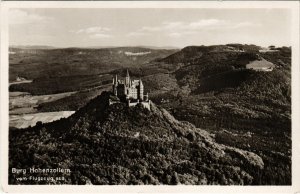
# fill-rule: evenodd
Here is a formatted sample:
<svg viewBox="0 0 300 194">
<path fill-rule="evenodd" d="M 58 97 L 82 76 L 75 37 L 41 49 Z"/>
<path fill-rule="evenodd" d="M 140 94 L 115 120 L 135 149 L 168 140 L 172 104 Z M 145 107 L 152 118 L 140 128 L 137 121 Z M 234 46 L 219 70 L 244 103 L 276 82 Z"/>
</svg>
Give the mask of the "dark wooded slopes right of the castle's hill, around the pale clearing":
<svg viewBox="0 0 300 194">
<path fill-rule="evenodd" d="M 253 61 L 274 69 L 246 69 Z M 216 134 L 217 142 L 262 157 L 260 184 L 291 184 L 291 48 L 192 46 L 160 62 L 177 67 L 169 77 L 178 86 L 154 93 L 152 100 L 176 119 Z"/>
</svg>

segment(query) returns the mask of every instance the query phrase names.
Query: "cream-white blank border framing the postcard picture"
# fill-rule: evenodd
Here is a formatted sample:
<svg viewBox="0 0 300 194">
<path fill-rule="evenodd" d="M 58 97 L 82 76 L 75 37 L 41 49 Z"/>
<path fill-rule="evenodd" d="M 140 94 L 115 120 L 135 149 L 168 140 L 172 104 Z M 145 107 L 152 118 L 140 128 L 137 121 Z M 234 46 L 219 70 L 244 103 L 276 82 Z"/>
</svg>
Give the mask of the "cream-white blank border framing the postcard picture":
<svg viewBox="0 0 300 194">
<path fill-rule="evenodd" d="M 299 6 L 297 1 L 98 1 L 1 2 L 1 190 L 4 192 L 133 193 L 300 193 Z M 292 186 L 79 186 L 8 185 L 8 24 L 9 8 L 287 8 L 292 11 Z M 298 118 L 298 119 L 296 119 Z"/>
</svg>

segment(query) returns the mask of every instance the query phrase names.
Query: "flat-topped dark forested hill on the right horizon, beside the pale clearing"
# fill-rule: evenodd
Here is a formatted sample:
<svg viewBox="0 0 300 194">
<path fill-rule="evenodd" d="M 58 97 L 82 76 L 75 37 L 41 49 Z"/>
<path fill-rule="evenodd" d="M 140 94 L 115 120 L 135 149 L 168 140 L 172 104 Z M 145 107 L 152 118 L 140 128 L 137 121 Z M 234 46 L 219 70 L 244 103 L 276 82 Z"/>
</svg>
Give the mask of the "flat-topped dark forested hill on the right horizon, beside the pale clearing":
<svg viewBox="0 0 300 194">
<path fill-rule="evenodd" d="M 179 85 L 186 85 L 192 91 L 207 92 L 251 81 L 247 79 L 250 72 L 245 69 L 253 61 L 262 66 L 264 62 L 273 64 L 274 72 L 280 71 L 287 82 L 290 81 L 291 48 L 270 50 L 241 44 L 188 46 L 159 61 L 174 67 Z M 210 88 L 204 88 L 206 86 Z"/>
</svg>

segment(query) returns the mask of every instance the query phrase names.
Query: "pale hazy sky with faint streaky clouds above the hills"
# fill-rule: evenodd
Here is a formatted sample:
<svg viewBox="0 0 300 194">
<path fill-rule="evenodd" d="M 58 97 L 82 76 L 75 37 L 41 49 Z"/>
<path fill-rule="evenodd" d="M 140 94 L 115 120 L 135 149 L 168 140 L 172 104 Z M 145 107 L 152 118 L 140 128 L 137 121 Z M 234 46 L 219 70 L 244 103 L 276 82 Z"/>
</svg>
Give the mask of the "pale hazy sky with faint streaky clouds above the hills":
<svg viewBox="0 0 300 194">
<path fill-rule="evenodd" d="M 286 9 L 11 9 L 10 45 L 291 45 Z"/>
</svg>

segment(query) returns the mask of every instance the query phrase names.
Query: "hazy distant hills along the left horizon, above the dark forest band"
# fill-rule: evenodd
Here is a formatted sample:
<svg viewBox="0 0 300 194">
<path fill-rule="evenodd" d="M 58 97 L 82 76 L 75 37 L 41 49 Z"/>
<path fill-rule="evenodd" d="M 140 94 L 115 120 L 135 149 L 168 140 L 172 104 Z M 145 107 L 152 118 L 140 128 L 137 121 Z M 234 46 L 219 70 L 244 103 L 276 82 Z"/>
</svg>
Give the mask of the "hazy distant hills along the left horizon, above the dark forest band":
<svg viewBox="0 0 300 194">
<path fill-rule="evenodd" d="M 12 49 L 9 56 L 10 80 L 16 75 L 27 79 L 95 75 L 115 69 L 139 67 L 164 58 L 177 50 L 120 47 L 103 49 Z"/>
</svg>

